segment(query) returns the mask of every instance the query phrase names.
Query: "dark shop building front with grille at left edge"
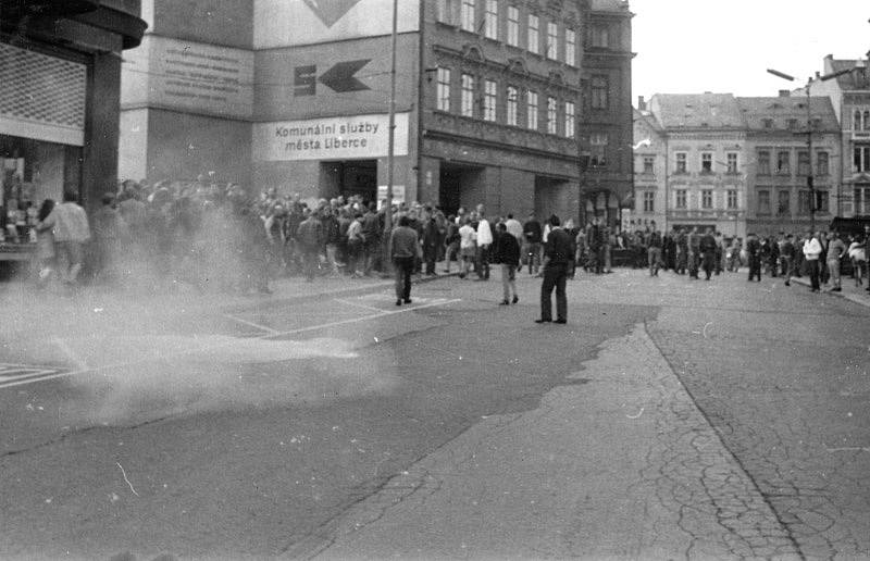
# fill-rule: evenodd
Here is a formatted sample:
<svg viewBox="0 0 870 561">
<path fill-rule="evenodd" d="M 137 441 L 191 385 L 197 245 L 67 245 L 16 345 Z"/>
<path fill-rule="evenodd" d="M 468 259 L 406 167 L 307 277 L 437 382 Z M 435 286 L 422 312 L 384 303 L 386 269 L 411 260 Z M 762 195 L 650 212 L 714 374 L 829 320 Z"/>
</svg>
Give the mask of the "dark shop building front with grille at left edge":
<svg viewBox="0 0 870 561">
<path fill-rule="evenodd" d="M 0 236 L 47 198 L 115 190 L 122 52 L 144 30 L 138 0 L 0 1 Z"/>
</svg>

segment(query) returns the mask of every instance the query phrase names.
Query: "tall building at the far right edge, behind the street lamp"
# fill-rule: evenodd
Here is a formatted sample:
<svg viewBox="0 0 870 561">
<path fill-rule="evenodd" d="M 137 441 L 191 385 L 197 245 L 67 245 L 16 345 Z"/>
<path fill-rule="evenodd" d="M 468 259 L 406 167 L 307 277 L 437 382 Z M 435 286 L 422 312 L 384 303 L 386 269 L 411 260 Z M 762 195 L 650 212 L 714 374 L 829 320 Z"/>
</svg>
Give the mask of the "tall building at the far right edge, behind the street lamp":
<svg viewBox="0 0 870 561">
<path fill-rule="evenodd" d="M 870 57 L 870 52 L 868 52 Z M 870 70 L 867 60 L 824 58 L 823 74 L 846 71 L 830 80 L 816 80 L 810 91 L 826 96 L 840 123 L 843 165 L 831 207 L 838 216 L 870 216 Z"/>
</svg>

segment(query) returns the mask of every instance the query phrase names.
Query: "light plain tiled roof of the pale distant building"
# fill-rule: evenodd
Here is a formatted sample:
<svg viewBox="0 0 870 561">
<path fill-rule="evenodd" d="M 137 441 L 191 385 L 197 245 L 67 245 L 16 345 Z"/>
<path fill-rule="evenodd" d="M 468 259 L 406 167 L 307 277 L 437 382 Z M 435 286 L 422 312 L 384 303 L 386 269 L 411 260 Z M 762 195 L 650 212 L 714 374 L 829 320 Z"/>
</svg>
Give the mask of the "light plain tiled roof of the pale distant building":
<svg viewBox="0 0 870 561">
<path fill-rule="evenodd" d="M 664 128 L 745 128 L 732 94 L 656 94 L 649 109 Z"/>
</svg>

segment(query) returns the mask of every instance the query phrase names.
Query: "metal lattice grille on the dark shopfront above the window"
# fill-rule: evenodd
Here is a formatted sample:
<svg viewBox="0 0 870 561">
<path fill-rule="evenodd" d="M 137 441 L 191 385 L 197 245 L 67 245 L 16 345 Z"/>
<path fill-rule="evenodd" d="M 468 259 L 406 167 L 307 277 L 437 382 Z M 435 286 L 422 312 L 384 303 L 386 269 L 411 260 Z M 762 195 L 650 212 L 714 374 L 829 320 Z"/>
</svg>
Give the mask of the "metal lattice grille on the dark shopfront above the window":
<svg viewBox="0 0 870 561">
<path fill-rule="evenodd" d="M 84 64 L 0 43 L 0 115 L 85 128 Z"/>
</svg>

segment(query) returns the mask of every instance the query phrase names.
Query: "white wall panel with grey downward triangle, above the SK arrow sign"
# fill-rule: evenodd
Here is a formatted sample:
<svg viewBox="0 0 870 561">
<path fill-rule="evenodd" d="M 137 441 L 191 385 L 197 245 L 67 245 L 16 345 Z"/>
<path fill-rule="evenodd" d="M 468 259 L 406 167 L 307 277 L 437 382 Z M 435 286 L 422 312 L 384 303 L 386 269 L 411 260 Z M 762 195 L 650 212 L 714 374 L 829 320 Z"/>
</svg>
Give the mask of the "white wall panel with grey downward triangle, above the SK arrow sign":
<svg viewBox="0 0 870 561">
<path fill-rule="evenodd" d="M 420 2 L 398 2 L 398 33 L 419 28 Z M 253 47 L 375 37 L 393 30 L 393 0 L 254 0 Z"/>
</svg>

